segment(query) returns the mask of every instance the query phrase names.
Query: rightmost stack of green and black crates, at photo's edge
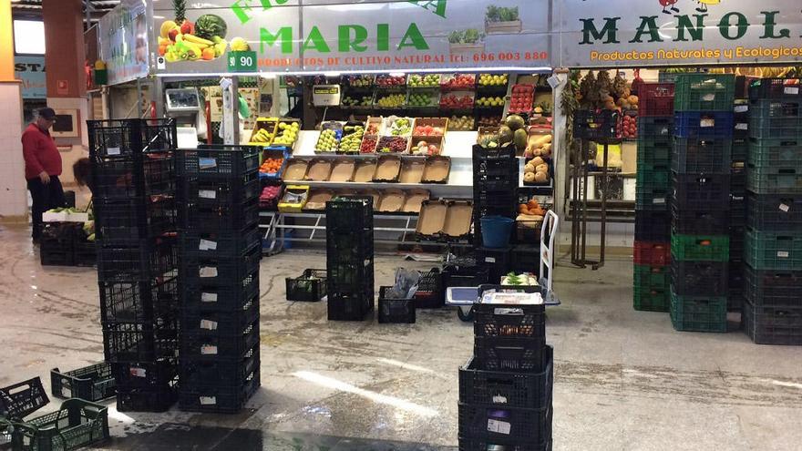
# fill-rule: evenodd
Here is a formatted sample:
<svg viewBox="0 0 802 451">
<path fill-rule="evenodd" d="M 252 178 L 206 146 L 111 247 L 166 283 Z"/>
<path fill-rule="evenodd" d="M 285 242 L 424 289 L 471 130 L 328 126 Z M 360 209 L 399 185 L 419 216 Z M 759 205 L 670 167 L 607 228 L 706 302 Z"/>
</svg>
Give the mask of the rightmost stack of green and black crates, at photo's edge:
<svg viewBox="0 0 802 451">
<path fill-rule="evenodd" d="M 760 344 L 802 344 L 802 81 L 749 87 L 746 333 Z"/>
</svg>

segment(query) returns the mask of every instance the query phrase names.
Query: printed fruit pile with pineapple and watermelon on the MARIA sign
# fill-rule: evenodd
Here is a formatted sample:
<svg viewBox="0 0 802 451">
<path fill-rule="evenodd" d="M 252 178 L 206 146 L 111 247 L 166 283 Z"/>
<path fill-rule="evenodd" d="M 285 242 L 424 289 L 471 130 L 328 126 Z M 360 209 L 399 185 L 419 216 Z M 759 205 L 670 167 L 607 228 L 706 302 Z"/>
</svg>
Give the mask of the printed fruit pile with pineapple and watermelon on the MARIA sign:
<svg viewBox="0 0 802 451">
<path fill-rule="evenodd" d="M 226 52 L 228 26 L 219 15 L 200 15 L 195 23 L 186 17 L 186 0 L 173 0 L 175 20 L 159 27 L 159 56 L 165 61 L 211 61 Z"/>
</svg>

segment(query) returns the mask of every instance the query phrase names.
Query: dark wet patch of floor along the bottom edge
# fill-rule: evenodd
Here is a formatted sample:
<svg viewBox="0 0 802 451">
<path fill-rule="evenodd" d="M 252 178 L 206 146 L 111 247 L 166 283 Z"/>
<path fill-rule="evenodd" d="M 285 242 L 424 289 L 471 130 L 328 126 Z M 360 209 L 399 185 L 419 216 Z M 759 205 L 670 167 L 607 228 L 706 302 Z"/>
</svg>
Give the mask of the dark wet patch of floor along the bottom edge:
<svg viewBox="0 0 802 451">
<path fill-rule="evenodd" d="M 93 449 L 148 451 L 456 451 L 451 446 L 364 440 L 309 434 L 270 433 L 255 429 L 165 424 L 153 432 L 114 437 Z"/>
</svg>

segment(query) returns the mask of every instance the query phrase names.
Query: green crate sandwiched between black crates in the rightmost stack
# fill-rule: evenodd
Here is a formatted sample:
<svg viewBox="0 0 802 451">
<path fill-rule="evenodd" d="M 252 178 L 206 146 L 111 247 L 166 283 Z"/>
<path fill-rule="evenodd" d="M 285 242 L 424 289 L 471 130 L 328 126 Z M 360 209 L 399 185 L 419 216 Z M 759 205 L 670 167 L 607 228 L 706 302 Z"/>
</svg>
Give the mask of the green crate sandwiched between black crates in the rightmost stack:
<svg viewBox="0 0 802 451">
<path fill-rule="evenodd" d="M 746 231 L 744 261 L 753 269 L 802 271 L 802 232 Z"/>
</svg>

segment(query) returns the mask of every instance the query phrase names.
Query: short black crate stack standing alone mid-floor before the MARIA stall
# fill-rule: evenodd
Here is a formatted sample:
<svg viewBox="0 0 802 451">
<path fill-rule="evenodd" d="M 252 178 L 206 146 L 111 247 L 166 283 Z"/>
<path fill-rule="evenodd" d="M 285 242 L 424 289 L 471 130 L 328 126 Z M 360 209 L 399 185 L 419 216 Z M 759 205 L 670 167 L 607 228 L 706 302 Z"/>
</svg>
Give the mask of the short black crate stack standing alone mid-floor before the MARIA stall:
<svg viewBox="0 0 802 451">
<path fill-rule="evenodd" d="M 374 311 L 373 198 L 326 202 L 329 321 L 364 321 Z"/>
</svg>

